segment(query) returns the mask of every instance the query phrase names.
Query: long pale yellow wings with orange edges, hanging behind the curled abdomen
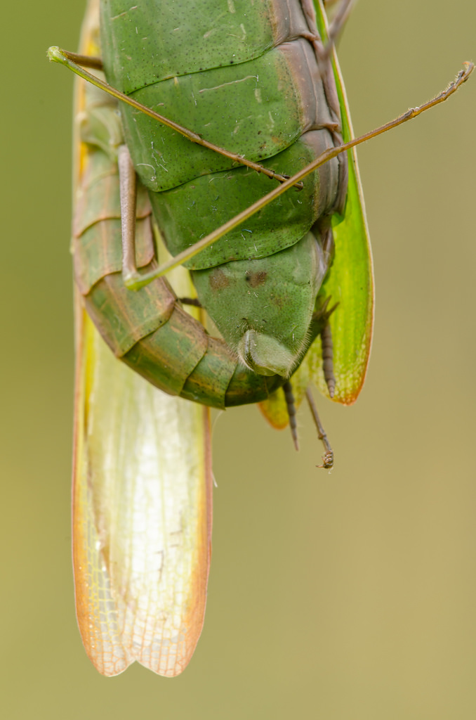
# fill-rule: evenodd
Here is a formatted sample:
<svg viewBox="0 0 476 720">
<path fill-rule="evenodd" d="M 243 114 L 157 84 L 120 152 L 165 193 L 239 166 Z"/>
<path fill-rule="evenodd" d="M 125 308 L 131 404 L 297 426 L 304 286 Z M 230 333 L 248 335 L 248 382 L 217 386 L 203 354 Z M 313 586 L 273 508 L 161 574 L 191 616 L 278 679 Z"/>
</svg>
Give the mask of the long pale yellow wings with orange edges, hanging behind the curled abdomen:
<svg viewBox="0 0 476 720">
<path fill-rule="evenodd" d="M 98 6 L 97 0 L 88 6 L 83 54 L 98 52 Z M 78 84 L 78 112 L 83 98 Z M 87 163 L 88 148 L 78 143 L 77 184 Z M 182 282 L 189 282 L 188 274 Z M 88 656 L 104 675 L 117 675 L 137 660 L 173 677 L 191 659 L 205 611 L 209 410 L 165 395 L 117 361 L 78 293 L 75 310 L 78 625 Z"/>
</svg>

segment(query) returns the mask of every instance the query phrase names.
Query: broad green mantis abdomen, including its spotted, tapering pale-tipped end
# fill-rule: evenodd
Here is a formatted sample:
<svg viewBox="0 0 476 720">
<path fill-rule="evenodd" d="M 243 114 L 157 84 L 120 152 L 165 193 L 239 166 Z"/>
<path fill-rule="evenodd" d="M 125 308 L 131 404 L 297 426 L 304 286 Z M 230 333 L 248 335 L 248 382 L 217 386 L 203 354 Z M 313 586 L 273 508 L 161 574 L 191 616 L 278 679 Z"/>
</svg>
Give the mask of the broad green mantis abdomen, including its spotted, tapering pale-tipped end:
<svg viewBox="0 0 476 720">
<path fill-rule="evenodd" d="M 221 148 L 289 176 L 342 141 L 331 67 L 308 0 L 193 6 L 109 0 L 101 27 L 108 81 Z M 134 168 L 173 255 L 270 189 L 264 175 L 190 143 L 136 109 L 122 108 L 122 119 Z M 346 161 L 339 156 L 309 175 L 301 192 L 275 199 L 184 264 L 225 340 L 259 374 L 289 377 L 303 358 L 331 263 L 330 218 L 342 211 L 346 189 Z M 309 230 L 314 244 L 304 240 Z M 279 273 L 273 271 L 278 256 Z M 268 257 L 263 274 L 256 261 Z M 216 276 L 201 272 L 217 266 L 224 267 L 226 294 Z M 298 273 L 295 282 L 296 266 L 306 274 Z M 262 287 L 244 312 L 246 281 L 258 273 Z M 281 277 L 290 279 L 285 292 Z M 237 307 L 236 320 L 223 318 L 224 303 Z M 284 325 L 277 313 L 291 304 Z"/>
</svg>

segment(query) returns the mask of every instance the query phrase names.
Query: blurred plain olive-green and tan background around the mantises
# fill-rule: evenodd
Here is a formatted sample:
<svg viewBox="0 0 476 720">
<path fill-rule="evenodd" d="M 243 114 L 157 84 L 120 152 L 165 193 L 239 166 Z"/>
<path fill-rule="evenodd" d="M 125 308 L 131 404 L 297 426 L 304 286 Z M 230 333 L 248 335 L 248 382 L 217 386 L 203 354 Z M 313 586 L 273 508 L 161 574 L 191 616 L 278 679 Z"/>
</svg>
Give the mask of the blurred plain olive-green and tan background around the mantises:
<svg viewBox="0 0 476 720">
<path fill-rule="evenodd" d="M 45 58 L 76 47 L 82 14 L 2 11 L 2 715 L 473 719 L 476 76 L 360 149 L 375 341 L 357 405 L 320 402 L 334 471 L 306 410 L 300 454 L 255 408 L 221 415 L 196 654 L 175 680 L 108 680 L 73 608 L 72 77 Z M 473 0 L 360 0 L 339 48 L 357 134 L 476 60 L 475 27 Z"/>
</svg>

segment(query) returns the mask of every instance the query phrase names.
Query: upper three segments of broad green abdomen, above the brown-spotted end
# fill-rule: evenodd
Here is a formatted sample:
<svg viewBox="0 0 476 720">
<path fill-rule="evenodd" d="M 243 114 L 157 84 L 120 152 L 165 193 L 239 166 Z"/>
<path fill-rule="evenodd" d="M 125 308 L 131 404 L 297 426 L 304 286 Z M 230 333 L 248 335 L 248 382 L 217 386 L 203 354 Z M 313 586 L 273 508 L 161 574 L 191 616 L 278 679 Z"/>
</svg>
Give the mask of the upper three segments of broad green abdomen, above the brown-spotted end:
<svg viewBox="0 0 476 720">
<path fill-rule="evenodd" d="M 108 81 L 220 147 L 292 175 L 339 144 L 340 115 L 311 0 L 105 0 Z M 134 166 L 175 255 L 237 215 L 274 182 L 122 107 Z M 326 163 L 186 263 L 203 269 L 262 258 L 342 210 L 344 156 Z"/>
</svg>

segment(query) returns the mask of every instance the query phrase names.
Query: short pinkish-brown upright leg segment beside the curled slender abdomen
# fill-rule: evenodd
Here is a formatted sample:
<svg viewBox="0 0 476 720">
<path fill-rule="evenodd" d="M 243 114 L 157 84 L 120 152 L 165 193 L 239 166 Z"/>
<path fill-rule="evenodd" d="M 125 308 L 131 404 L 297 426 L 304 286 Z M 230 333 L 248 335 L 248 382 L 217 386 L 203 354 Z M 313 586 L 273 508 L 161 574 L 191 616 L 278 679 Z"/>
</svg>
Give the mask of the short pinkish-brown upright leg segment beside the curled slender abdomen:
<svg viewBox="0 0 476 720">
<path fill-rule="evenodd" d="M 137 275 L 135 260 L 136 176 L 127 145 L 119 145 L 119 187 L 121 192 L 122 275 L 124 281 Z"/>
</svg>

